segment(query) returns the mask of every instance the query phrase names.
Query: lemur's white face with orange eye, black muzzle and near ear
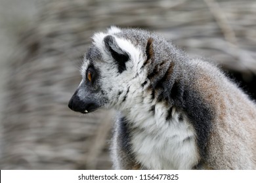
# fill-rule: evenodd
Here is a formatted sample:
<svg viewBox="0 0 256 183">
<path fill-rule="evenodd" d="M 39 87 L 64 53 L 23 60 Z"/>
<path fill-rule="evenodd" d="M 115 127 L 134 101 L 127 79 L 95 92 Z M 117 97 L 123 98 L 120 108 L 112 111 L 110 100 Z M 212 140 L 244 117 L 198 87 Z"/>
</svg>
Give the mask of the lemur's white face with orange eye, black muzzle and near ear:
<svg viewBox="0 0 256 183">
<path fill-rule="evenodd" d="M 131 41 L 118 37 L 119 31 L 112 27 L 108 33 L 94 35 L 81 66 L 83 78 L 68 104 L 72 110 L 87 113 L 99 107 L 118 108 L 130 86 L 140 85 L 146 56 Z"/>
</svg>

